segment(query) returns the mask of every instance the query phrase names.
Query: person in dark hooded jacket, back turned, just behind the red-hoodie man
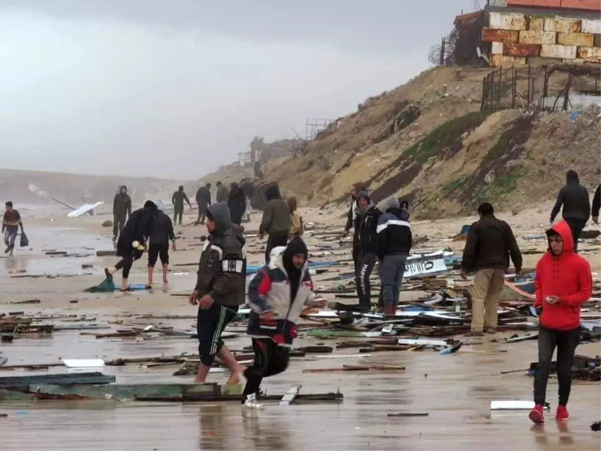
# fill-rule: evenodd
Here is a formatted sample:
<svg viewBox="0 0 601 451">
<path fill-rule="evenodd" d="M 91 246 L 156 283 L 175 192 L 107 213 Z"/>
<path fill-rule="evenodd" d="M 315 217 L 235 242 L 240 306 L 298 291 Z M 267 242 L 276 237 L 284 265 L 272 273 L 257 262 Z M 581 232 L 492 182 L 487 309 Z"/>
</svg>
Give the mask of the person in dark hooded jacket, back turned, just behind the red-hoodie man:
<svg viewBox="0 0 601 451">
<path fill-rule="evenodd" d="M 588 217 L 591 215 L 591 203 L 588 197 L 588 191 L 580 184 L 578 173 L 570 169 L 566 173 L 566 186 L 561 188 L 557 195 L 557 201 L 551 210 L 551 224 L 555 221 L 555 216 L 560 212 L 563 205 L 561 216 L 566 219 L 572 230 L 574 239 L 574 252 L 578 252 L 578 239 L 582 229 L 587 225 Z M 597 209 L 597 214 L 599 209 Z"/>
</svg>

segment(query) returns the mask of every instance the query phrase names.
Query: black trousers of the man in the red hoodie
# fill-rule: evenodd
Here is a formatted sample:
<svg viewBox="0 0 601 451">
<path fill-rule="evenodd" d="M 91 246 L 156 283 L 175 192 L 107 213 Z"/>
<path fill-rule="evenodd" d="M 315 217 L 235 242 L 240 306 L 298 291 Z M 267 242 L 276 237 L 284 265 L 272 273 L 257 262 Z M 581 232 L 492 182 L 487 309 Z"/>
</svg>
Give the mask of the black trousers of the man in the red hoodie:
<svg viewBox="0 0 601 451">
<path fill-rule="evenodd" d="M 538 331 L 538 366 L 534 374 L 534 403 L 544 405 L 547 382 L 551 373 L 553 352 L 557 348 L 557 380 L 559 405 L 567 405 L 572 390 L 572 365 L 580 341 L 580 327 L 558 331 L 540 327 Z"/>
</svg>

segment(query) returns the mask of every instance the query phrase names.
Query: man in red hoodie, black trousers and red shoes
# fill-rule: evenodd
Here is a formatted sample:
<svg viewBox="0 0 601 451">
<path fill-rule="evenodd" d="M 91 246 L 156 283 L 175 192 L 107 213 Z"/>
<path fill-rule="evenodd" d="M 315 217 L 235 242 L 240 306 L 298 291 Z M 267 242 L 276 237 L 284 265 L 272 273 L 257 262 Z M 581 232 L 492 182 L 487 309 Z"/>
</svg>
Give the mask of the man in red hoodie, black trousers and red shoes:
<svg viewBox="0 0 601 451">
<path fill-rule="evenodd" d="M 572 388 L 572 363 L 580 340 L 580 306 L 593 293 L 591 267 L 574 253 L 574 239 L 566 221 L 546 232 L 548 252 L 538 260 L 534 277 L 534 307 L 540 318 L 538 366 L 534 375 L 535 407 L 529 414 L 536 424 L 545 422 L 543 407 L 553 352 L 557 347 L 559 404 L 555 420 L 566 421 L 566 405 Z"/>
</svg>

